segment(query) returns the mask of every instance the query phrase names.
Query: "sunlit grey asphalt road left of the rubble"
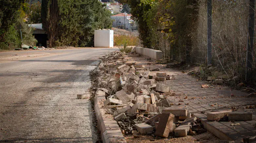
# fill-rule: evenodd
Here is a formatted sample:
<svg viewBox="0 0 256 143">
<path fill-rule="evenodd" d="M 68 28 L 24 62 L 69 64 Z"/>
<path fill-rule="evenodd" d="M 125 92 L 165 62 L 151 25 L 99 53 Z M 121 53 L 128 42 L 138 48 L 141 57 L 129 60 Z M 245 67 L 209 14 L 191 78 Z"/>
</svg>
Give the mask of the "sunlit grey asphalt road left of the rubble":
<svg viewBox="0 0 256 143">
<path fill-rule="evenodd" d="M 0 142 L 96 142 L 91 102 L 76 94 L 88 91 L 89 71 L 113 50 L 22 51 L 0 62 Z"/>
</svg>

